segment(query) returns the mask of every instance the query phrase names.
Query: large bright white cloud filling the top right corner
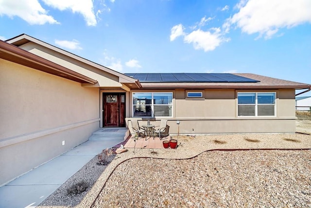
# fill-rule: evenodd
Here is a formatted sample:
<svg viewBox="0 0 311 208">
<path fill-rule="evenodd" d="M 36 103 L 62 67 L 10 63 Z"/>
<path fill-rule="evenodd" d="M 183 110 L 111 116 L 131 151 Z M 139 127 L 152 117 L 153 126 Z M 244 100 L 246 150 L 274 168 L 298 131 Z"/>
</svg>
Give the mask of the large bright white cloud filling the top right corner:
<svg viewBox="0 0 311 208">
<path fill-rule="evenodd" d="M 235 8 L 239 12 L 227 21 L 243 33 L 259 33 L 258 38 L 268 39 L 280 28 L 311 23 L 311 0 L 241 0 Z"/>
</svg>

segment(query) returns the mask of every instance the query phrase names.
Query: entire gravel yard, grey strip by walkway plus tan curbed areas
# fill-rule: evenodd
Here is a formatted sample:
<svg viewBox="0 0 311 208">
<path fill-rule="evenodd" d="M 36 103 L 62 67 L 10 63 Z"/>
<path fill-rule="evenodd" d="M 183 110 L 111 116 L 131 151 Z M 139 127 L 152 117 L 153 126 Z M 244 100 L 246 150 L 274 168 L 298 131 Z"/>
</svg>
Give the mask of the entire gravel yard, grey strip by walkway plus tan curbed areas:
<svg viewBox="0 0 311 208">
<path fill-rule="evenodd" d="M 94 157 L 38 207 L 311 207 L 311 150 L 205 152 L 260 148 L 311 149 L 311 135 L 179 136 L 177 149 Z"/>
</svg>

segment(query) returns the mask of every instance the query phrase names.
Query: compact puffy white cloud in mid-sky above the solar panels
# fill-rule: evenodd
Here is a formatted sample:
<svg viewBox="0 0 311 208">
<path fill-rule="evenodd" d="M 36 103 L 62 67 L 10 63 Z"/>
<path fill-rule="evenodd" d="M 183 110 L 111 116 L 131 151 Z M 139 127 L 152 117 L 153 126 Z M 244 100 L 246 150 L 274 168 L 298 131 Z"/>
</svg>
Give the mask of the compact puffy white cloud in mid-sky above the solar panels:
<svg viewBox="0 0 311 208">
<path fill-rule="evenodd" d="M 212 28 L 211 31 L 198 29 L 184 36 L 184 42 L 192 43 L 194 49 L 203 49 L 205 52 L 213 51 L 222 42 L 228 42 L 229 40 L 229 38 L 223 36 L 220 28 Z"/>
</svg>

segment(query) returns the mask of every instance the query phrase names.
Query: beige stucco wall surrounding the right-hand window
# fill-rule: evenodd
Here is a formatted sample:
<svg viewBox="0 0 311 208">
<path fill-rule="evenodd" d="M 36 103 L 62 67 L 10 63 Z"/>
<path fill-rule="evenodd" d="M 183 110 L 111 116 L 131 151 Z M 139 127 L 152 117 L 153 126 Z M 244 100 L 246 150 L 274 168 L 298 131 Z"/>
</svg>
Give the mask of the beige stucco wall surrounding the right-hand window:
<svg viewBox="0 0 311 208">
<path fill-rule="evenodd" d="M 276 92 L 275 117 L 238 117 L 237 93 L 247 90 L 204 89 L 202 90 L 204 99 L 201 100 L 187 99 L 185 89 L 171 91 L 173 91 L 173 117 L 162 118 L 168 120 L 171 134 L 295 132 L 294 89 L 248 90 Z M 161 118 L 156 119 L 157 121 L 153 123 L 159 125 Z M 177 120 L 180 121 L 179 130 Z M 138 118 L 138 122 L 143 124 L 146 121 Z"/>
</svg>

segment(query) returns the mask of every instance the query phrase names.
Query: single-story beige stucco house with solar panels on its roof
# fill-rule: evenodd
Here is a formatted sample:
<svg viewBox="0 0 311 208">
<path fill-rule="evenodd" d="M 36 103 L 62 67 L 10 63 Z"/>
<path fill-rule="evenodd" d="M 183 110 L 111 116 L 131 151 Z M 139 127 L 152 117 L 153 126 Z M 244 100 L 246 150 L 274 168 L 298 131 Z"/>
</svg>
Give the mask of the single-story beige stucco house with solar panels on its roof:
<svg viewBox="0 0 311 208">
<path fill-rule="evenodd" d="M 310 88 L 249 73 L 122 74 L 19 35 L 0 41 L 0 185 L 129 119 L 166 119 L 170 134 L 293 133 L 295 89 Z"/>
</svg>

